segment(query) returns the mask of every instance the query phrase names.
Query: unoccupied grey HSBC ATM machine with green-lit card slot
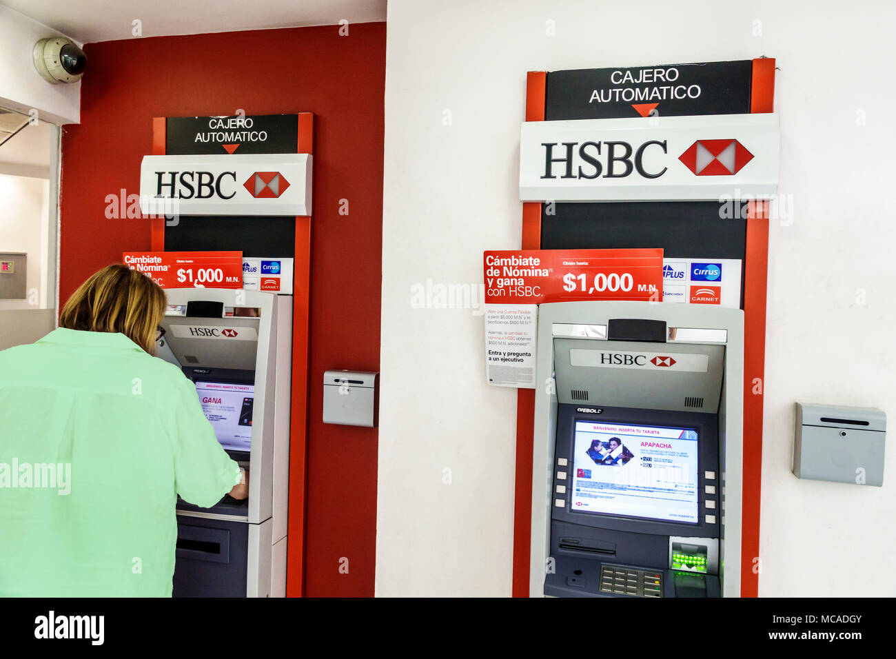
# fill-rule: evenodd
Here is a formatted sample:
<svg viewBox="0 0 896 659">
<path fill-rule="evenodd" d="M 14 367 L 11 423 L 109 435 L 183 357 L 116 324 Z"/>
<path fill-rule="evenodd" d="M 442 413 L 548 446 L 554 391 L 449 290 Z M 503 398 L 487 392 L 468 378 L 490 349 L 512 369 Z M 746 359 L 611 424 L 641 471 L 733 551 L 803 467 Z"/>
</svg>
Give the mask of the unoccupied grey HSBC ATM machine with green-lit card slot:
<svg viewBox="0 0 896 659">
<path fill-rule="evenodd" d="M 743 311 L 538 313 L 530 594 L 740 594 Z"/>
</svg>

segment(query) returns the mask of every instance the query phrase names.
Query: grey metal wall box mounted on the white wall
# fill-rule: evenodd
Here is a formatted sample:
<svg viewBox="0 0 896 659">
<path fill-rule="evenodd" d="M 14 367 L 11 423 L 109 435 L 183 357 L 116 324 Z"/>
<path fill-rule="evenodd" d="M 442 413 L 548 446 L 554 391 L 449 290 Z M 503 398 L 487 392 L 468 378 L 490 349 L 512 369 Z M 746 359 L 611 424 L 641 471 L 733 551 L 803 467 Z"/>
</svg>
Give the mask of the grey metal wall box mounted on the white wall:
<svg viewBox="0 0 896 659">
<path fill-rule="evenodd" d="M 794 475 L 883 485 L 886 423 L 886 414 L 873 407 L 797 403 Z"/>
</svg>

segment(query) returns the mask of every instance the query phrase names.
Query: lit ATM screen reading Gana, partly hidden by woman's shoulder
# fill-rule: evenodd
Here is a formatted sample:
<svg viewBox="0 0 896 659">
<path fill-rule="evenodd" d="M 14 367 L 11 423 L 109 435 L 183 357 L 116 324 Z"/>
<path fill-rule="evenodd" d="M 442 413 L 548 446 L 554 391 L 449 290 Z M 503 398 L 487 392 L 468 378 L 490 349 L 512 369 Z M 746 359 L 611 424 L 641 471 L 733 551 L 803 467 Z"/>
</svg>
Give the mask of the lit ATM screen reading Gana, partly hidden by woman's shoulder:
<svg viewBox="0 0 896 659">
<path fill-rule="evenodd" d="M 254 385 L 196 382 L 196 394 L 221 446 L 248 452 L 252 444 Z"/>
</svg>

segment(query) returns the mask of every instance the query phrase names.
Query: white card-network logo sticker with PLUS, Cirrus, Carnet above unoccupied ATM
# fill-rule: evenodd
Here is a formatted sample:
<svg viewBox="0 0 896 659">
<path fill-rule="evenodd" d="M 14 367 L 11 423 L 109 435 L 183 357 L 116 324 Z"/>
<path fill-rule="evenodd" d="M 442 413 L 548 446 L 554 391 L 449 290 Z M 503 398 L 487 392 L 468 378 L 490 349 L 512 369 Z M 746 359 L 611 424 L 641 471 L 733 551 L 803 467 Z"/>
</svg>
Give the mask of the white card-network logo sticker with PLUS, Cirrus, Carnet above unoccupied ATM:
<svg viewBox="0 0 896 659">
<path fill-rule="evenodd" d="M 737 258 L 664 258 L 663 301 L 740 308 Z"/>
</svg>

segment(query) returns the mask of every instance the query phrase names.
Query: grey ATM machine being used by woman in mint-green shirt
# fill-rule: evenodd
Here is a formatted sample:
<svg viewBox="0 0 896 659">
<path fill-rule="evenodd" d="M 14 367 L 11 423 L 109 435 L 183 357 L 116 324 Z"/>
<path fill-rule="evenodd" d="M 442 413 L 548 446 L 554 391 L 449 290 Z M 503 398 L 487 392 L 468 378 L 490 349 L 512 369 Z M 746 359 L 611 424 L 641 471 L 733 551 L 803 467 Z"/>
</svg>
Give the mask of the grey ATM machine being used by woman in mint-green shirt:
<svg viewBox="0 0 896 659">
<path fill-rule="evenodd" d="M 286 595 L 292 297 L 169 289 L 159 357 L 196 386 L 221 446 L 249 472 L 249 496 L 210 508 L 177 501 L 176 597 Z"/>
</svg>

